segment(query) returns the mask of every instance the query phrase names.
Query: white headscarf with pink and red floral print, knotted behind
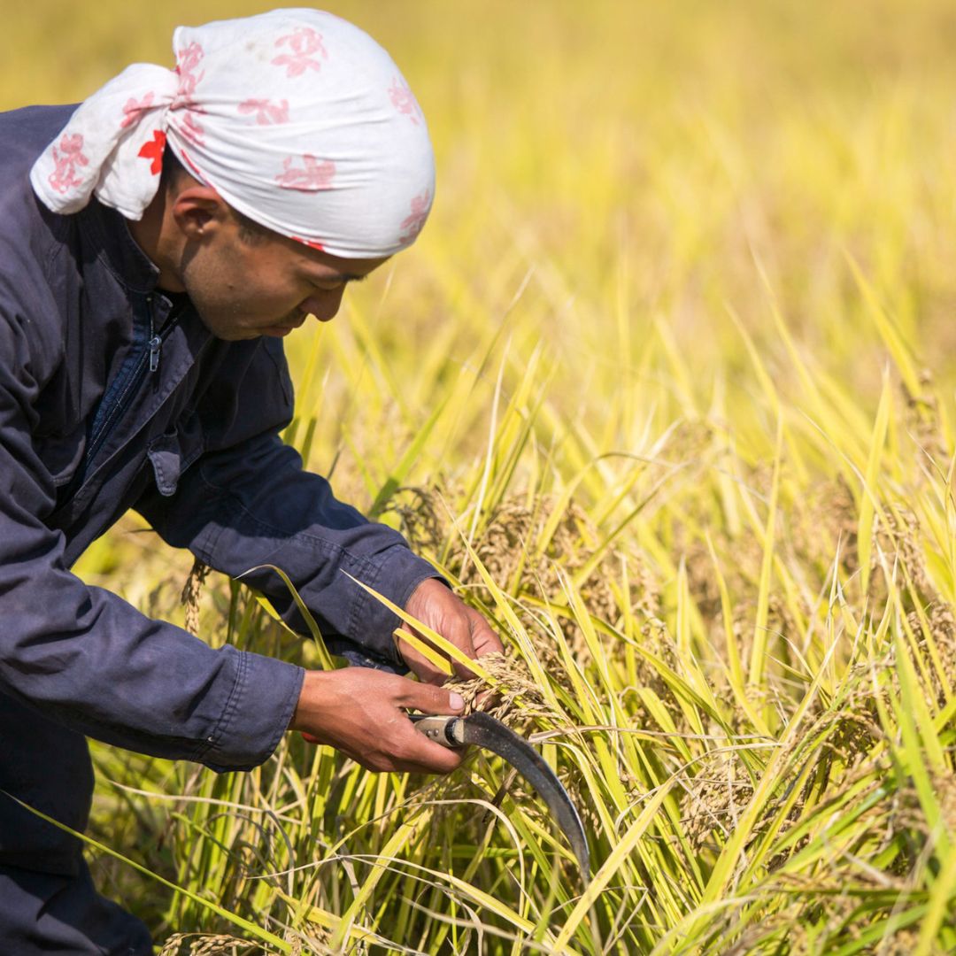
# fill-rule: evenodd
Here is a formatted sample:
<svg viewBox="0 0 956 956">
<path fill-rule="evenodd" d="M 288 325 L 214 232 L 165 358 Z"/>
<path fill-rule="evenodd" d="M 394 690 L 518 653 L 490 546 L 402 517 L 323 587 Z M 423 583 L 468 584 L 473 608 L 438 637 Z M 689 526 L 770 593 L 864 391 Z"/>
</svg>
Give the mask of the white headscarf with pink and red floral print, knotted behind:
<svg viewBox="0 0 956 956">
<path fill-rule="evenodd" d="M 345 258 L 409 246 L 435 191 L 422 110 L 367 33 L 277 10 L 173 33 L 175 70 L 138 63 L 83 102 L 34 163 L 54 212 L 91 195 L 141 219 L 163 149 L 260 225 Z"/>
</svg>

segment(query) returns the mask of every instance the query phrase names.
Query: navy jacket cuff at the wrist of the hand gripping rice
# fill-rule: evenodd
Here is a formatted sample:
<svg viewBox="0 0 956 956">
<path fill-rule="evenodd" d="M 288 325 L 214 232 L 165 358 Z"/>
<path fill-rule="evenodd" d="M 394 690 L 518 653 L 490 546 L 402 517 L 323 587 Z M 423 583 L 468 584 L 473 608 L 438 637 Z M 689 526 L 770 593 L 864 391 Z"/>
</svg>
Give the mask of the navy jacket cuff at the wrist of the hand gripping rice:
<svg viewBox="0 0 956 956">
<path fill-rule="evenodd" d="M 414 554 L 406 545 L 395 545 L 381 554 L 376 562 L 375 573 L 371 579 L 363 579 L 362 583 L 404 608 L 412 592 L 429 577 L 437 577 L 447 584 L 445 578 L 424 558 Z M 406 670 L 392 637 L 392 632 L 402 625 L 402 619 L 364 588 L 353 586 L 358 594 L 352 605 L 346 636 L 359 647 L 367 648 L 385 661 L 398 664 L 402 671 Z"/>
</svg>

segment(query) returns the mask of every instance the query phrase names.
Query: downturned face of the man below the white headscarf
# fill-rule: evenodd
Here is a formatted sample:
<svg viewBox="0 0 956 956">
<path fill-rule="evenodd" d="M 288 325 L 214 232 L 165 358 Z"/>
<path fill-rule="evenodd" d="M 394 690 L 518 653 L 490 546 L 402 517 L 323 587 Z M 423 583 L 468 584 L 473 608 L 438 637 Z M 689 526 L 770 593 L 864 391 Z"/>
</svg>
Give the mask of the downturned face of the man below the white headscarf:
<svg viewBox="0 0 956 956">
<path fill-rule="evenodd" d="M 179 273 L 209 331 L 235 341 L 287 336 L 309 315 L 327 322 L 346 285 L 385 261 L 342 259 L 275 233 L 250 239 L 232 216 L 210 241 L 185 248 Z"/>
</svg>

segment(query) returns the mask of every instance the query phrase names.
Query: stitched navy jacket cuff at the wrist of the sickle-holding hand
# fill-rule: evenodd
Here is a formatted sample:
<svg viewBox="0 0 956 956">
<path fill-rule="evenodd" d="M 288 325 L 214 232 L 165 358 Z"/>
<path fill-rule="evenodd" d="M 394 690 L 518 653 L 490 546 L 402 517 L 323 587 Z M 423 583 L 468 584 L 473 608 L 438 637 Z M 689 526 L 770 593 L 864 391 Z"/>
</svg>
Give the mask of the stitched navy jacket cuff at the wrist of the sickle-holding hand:
<svg viewBox="0 0 956 956">
<path fill-rule="evenodd" d="M 250 651 L 236 651 L 236 676 L 202 762 L 210 770 L 248 771 L 272 756 L 289 729 L 305 670 Z"/>
</svg>

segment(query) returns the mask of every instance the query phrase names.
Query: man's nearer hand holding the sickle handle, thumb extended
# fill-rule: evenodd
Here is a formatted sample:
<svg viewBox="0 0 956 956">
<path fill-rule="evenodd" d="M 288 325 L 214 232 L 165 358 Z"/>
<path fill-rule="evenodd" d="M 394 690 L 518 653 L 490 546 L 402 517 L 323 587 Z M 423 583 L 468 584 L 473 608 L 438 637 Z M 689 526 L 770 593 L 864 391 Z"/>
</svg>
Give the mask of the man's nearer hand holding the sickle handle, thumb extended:
<svg viewBox="0 0 956 956">
<path fill-rule="evenodd" d="M 366 770 L 448 773 L 462 754 L 428 740 L 406 710 L 458 714 L 461 696 L 363 667 L 306 671 L 290 730 L 341 750 Z"/>
</svg>

